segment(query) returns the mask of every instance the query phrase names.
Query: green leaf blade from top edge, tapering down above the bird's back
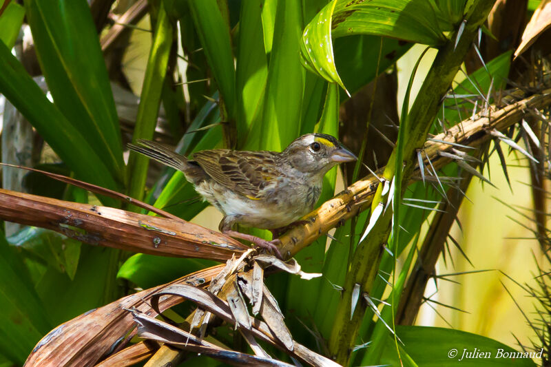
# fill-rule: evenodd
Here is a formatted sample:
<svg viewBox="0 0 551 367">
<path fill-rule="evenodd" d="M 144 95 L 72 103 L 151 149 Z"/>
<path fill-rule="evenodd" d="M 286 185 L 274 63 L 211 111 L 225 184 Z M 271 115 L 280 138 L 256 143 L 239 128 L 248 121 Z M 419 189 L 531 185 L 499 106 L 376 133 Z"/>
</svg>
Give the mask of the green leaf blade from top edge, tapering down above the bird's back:
<svg viewBox="0 0 551 367">
<path fill-rule="evenodd" d="M 236 116 L 236 74 L 233 67 L 229 24 L 216 0 L 190 0 L 189 8 L 207 61 L 211 67 L 228 117 Z"/>
</svg>

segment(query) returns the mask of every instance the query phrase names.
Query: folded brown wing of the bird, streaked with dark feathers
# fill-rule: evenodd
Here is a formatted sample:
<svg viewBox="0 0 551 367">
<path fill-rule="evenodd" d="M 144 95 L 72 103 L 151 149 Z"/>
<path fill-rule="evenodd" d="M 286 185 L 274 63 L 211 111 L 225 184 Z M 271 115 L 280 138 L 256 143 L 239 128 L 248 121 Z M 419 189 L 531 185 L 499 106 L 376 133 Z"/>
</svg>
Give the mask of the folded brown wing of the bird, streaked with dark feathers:
<svg viewBox="0 0 551 367">
<path fill-rule="evenodd" d="M 193 160 L 216 182 L 253 200 L 280 175 L 271 151 L 203 150 Z"/>
</svg>

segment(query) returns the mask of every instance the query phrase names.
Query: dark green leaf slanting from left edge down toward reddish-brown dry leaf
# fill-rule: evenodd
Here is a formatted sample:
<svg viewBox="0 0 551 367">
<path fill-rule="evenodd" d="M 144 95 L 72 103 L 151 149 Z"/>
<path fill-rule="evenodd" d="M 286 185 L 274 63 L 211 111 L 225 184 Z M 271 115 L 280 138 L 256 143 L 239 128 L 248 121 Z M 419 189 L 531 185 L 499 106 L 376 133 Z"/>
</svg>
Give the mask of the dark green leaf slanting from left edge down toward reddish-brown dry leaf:
<svg viewBox="0 0 551 367">
<path fill-rule="evenodd" d="M 76 173 L 77 178 L 108 189 L 119 189 L 87 138 L 48 101 L 37 83 L 3 43 L 0 43 L 0 70 L 0 93 L 32 123 L 63 162 Z M 118 202 L 112 198 L 104 197 L 101 200 L 105 205 L 118 206 Z"/>
</svg>

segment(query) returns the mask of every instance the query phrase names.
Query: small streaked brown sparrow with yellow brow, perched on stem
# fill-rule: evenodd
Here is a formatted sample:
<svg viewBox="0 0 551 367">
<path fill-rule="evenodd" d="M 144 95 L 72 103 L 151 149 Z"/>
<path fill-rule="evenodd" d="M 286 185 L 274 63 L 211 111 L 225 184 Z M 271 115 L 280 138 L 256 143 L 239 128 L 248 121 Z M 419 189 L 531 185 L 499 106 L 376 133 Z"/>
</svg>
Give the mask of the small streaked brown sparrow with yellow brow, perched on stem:
<svg viewBox="0 0 551 367">
<path fill-rule="evenodd" d="M 182 171 L 200 196 L 222 212 L 218 226 L 222 233 L 269 249 L 280 258 L 280 240 L 234 231 L 234 224 L 269 229 L 276 237 L 314 209 L 329 169 L 357 160 L 327 134 L 300 136 L 282 152 L 209 149 L 196 152 L 192 159 L 153 141 L 136 143 L 129 149 Z"/>
</svg>

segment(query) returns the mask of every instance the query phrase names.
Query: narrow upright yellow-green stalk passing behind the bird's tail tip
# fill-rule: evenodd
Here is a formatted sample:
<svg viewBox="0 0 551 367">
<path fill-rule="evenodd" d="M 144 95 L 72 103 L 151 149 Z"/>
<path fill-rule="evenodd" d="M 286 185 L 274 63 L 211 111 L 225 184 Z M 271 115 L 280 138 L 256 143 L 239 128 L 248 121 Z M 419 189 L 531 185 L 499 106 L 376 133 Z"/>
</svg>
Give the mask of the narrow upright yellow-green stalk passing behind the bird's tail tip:
<svg viewBox="0 0 551 367">
<path fill-rule="evenodd" d="M 133 143 L 136 143 L 138 139 L 151 140 L 153 138 L 153 132 L 157 124 L 160 97 L 163 92 L 163 83 L 167 74 L 172 36 L 172 25 L 163 2 L 161 2 L 157 14 L 153 43 L 151 50 L 149 50 L 149 59 L 147 59 L 147 68 L 145 69 L 138 116 L 136 117 L 136 127 L 134 128 L 134 135 L 132 135 Z M 134 151 L 130 152 L 128 159 L 130 174 L 128 194 L 132 198 L 138 200 L 143 198 L 148 163 L 149 158 Z"/>
</svg>

